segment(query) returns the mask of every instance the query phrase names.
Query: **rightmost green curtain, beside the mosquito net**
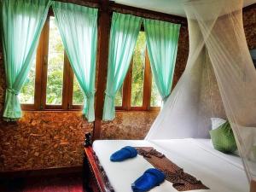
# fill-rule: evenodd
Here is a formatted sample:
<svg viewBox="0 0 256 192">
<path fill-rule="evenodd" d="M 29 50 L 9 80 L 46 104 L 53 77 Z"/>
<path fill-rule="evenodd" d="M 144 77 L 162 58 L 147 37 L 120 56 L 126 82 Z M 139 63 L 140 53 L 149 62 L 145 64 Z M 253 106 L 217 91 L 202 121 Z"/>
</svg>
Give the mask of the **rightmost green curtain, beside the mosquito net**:
<svg viewBox="0 0 256 192">
<path fill-rule="evenodd" d="M 180 25 L 146 19 L 144 29 L 155 84 L 165 102 L 172 89 Z"/>
</svg>

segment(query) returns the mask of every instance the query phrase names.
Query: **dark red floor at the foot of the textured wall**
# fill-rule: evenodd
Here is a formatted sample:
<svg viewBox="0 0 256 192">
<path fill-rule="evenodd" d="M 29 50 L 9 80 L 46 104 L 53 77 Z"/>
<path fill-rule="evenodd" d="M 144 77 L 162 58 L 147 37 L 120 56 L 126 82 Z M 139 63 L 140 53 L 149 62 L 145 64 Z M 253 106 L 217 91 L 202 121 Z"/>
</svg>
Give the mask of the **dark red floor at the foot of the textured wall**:
<svg viewBox="0 0 256 192">
<path fill-rule="evenodd" d="M 2 182 L 1 192 L 84 192 L 81 175 L 32 177 Z"/>
</svg>

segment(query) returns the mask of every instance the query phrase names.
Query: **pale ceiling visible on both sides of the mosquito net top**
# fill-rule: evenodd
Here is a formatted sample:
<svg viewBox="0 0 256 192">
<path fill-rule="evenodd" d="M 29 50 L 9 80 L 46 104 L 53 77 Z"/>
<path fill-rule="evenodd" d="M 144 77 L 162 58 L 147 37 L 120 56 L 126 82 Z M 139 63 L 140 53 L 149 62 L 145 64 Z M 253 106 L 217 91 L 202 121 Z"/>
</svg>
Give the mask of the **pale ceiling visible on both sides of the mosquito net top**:
<svg viewBox="0 0 256 192">
<path fill-rule="evenodd" d="M 170 15 L 186 16 L 182 6 L 183 0 L 114 0 L 114 2 Z M 243 6 L 247 7 L 253 3 L 256 3 L 256 0 L 244 0 Z"/>
</svg>

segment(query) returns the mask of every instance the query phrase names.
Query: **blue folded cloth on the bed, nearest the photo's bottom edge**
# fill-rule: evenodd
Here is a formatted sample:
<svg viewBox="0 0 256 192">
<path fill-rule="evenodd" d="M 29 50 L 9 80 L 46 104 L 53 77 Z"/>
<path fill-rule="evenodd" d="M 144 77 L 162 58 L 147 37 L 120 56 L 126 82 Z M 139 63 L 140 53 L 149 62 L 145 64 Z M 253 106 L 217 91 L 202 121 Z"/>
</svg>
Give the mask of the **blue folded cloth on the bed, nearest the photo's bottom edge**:
<svg viewBox="0 0 256 192">
<path fill-rule="evenodd" d="M 166 176 L 163 172 L 160 172 L 158 169 L 151 168 L 131 184 L 131 189 L 134 192 L 148 191 L 164 182 L 165 178 Z"/>
</svg>

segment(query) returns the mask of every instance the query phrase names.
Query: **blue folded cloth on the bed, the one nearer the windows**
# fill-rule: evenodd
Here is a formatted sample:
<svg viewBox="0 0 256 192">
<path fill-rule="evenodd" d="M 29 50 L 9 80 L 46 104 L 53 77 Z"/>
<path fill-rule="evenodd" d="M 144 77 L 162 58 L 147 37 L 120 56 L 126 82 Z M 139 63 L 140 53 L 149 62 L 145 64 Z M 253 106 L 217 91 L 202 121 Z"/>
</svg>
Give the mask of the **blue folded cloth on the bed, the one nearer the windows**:
<svg viewBox="0 0 256 192">
<path fill-rule="evenodd" d="M 122 160 L 126 160 L 136 156 L 137 156 L 137 149 L 132 148 L 131 146 L 126 146 L 125 148 L 121 148 L 117 152 L 113 153 L 110 156 L 110 160 L 113 162 L 116 162 L 116 161 L 122 161 Z"/>
</svg>

